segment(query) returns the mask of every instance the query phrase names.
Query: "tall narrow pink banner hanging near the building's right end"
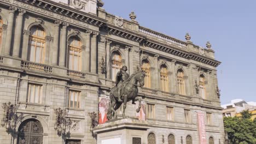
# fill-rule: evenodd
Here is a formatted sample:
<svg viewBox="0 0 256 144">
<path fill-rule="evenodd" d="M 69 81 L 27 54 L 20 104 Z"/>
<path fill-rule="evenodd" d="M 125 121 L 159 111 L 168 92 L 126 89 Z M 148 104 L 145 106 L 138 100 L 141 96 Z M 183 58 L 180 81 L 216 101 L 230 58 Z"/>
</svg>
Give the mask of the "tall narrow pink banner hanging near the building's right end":
<svg viewBox="0 0 256 144">
<path fill-rule="evenodd" d="M 205 114 L 202 112 L 197 112 L 197 120 L 198 120 L 200 144 L 207 144 L 206 130 L 205 130 Z"/>
</svg>

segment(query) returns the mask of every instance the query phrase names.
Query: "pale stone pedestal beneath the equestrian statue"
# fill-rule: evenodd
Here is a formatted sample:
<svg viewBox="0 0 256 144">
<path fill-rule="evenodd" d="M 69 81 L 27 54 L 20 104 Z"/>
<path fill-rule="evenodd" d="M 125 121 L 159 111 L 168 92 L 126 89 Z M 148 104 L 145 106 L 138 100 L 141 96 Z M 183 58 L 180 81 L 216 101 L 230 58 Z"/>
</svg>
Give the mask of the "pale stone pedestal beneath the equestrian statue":
<svg viewBox="0 0 256 144">
<path fill-rule="evenodd" d="M 98 125 L 97 144 L 143 144 L 147 143 L 148 123 L 137 119 L 118 119 Z"/>
</svg>

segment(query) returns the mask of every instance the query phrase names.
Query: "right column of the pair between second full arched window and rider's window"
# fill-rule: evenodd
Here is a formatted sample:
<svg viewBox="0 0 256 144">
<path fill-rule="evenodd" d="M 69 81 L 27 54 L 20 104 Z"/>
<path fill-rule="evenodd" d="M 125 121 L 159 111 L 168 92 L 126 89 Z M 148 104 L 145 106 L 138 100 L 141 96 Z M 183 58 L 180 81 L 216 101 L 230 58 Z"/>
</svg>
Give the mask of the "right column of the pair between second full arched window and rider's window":
<svg viewBox="0 0 256 144">
<path fill-rule="evenodd" d="M 97 35 L 93 32 L 91 38 L 91 73 L 97 73 Z"/>
</svg>

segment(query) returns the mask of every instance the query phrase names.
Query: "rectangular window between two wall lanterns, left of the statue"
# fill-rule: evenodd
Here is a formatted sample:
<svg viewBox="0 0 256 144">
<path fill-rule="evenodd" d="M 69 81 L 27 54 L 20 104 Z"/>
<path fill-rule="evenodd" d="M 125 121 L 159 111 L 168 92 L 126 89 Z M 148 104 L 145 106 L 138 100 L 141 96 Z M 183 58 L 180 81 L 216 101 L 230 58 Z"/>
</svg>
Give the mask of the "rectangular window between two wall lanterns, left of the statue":
<svg viewBox="0 0 256 144">
<path fill-rule="evenodd" d="M 74 109 L 80 108 L 80 92 L 69 90 L 68 107 Z"/>
</svg>

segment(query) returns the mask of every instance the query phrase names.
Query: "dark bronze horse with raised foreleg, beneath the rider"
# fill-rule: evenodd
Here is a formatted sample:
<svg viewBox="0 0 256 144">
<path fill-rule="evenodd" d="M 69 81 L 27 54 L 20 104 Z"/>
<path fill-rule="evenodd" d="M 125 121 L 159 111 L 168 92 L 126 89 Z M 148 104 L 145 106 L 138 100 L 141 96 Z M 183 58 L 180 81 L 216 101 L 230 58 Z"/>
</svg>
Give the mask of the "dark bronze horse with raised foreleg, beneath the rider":
<svg viewBox="0 0 256 144">
<path fill-rule="evenodd" d="M 126 118 L 125 116 L 126 104 L 128 101 L 131 101 L 131 100 L 132 100 L 132 104 L 135 104 L 134 101 L 137 101 L 137 100 L 139 101 L 138 109 L 136 109 L 136 112 L 139 112 L 139 110 L 141 109 L 141 98 L 137 98 L 138 87 L 144 86 L 144 78 L 145 78 L 145 72 L 140 70 L 137 73 L 132 74 L 129 77 L 129 79 L 124 81 L 122 83 L 122 86 L 114 87 L 111 89 L 109 94 L 110 103 L 109 103 L 109 109 L 107 114 L 108 120 L 117 119 L 117 110 L 122 105 L 122 103 L 124 103 L 123 118 Z M 139 84 L 137 85 L 137 83 Z M 121 88 L 121 100 L 123 100 L 123 102 L 118 101 L 119 88 Z"/>
</svg>

